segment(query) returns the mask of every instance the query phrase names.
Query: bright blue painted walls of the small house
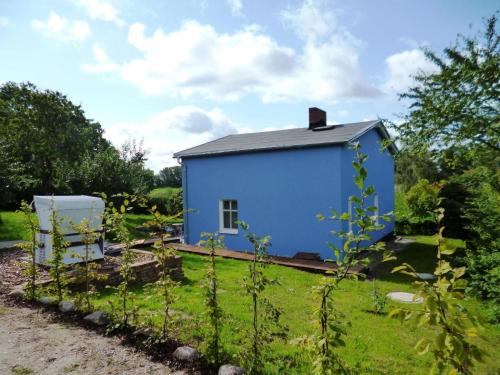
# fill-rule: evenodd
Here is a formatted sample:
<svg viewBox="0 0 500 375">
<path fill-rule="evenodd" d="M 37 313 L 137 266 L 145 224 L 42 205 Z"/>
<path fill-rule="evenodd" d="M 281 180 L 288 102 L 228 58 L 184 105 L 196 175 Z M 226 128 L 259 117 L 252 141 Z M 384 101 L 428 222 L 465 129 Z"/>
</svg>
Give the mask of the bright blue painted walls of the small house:
<svg viewBox="0 0 500 375">
<path fill-rule="evenodd" d="M 375 131 L 361 141 L 366 143 L 363 152 L 370 154 L 369 179 L 386 191 L 379 194 L 380 212 L 392 210 L 392 157 L 379 153 Z M 318 222 L 316 214 L 328 214 L 332 208 L 347 210 L 353 187 L 352 156 L 344 146 L 330 146 L 184 159 L 185 208 L 193 210 L 185 215 L 186 242 L 196 244 L 201 232 L 218 231 L 219 200 L 235 199 L 239 219 L 258 235 L 271 235 L 271 254 L 293 256 L 309 251 L 332 258 L 328 241 L 336 246 L 341 243 L 329 231 L 339 229 L 339 224 Z M 392 226 L 379 237 L 391 230 Z M 224 236 L 227 248 L 249 250 L 241 229 Z"/>
</svg>

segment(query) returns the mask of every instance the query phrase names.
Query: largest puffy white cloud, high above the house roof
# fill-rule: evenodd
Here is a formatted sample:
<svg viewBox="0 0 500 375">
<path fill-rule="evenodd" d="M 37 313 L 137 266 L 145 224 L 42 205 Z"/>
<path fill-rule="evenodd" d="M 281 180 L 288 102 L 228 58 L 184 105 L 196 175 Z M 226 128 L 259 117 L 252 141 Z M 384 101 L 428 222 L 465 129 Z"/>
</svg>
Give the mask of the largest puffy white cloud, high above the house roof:
<svg viewBox="0 0 500 375">
<path fill-rule="evenodd" d="M 297 17 L 303 17 L 304 9 L 296 10 Z M 177 30 L 167 33 L 159 28 L 148 35 L 143 24 L 135 23 L 128 42 L 141 55 L 121 63 L 117 73 L 146 94 L 182 98 L 238 100 L 256 94 L 272 102 L 380 95 L 361 72 L 360 43 L 340 26 L 330 26 L 333 15 L 321 9 L 314 12 L 317 17 L 325 15 L 324 26 L 297 30 L 304 39 L 301 50 L 280 45 L 257 25 L 229 34 L 186 21 Z M 284 22 L 298 27 L 293 17 L 288 9 Z"/>
</svg>

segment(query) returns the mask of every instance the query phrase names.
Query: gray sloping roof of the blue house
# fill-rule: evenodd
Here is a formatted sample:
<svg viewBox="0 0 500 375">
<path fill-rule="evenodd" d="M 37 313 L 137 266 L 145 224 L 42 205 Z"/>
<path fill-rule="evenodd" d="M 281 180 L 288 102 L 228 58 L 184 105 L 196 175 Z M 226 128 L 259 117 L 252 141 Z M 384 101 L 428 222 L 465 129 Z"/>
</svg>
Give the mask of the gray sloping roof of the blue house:
<svg viewBox="0 0 500 375">
<path fill-rule="evenodd" d="M 259 133 L 234 134 L 174 154 L 174 158 L 190 158 L 265 150 L 318 147 L 342 144 L 376 128 L 383 138 L 389 134 L 381 121 L 339 124 L 325 130 L 296 128 Z"/>
</svg>

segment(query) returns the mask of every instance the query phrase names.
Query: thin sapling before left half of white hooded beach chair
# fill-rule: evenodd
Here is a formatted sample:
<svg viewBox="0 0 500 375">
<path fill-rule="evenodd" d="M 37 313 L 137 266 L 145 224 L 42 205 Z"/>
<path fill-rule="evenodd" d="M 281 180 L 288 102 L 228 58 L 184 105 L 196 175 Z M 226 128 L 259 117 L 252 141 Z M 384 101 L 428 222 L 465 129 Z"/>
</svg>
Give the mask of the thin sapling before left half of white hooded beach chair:
<svg viewBox="0 0 500 375">
<path fill-rule="evenodd" d="M 49 233 L 52 239 L 52 253 L 48 261 L 50 265 L 49 275 L 52 278 L 51 286 L 56 295 L 56 300 L 61 302 L 68 294 L 68 267 L 64 263 L 64 257 L 69 244 L 62 231 L 62 219 L 58 217 L 56 210 L 52 209 L 51 211 L 50 224 L 52 229 Z"/>
</svg>

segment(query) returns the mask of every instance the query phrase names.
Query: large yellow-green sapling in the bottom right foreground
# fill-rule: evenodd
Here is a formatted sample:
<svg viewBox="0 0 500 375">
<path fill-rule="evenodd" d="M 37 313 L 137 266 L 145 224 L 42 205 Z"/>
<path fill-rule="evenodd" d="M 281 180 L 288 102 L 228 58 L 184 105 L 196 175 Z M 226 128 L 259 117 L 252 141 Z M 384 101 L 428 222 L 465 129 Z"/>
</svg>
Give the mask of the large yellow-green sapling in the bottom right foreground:
<svg viewBox="0 0 500 375">
<path fill-rule="evenodd" d="M 467 286 L 465 267 L 453 267 L 444 257 L 455 253 L 456 246 L 443 237 L 444 227 L 440 226 L 444 217 L 442 208 L 437 210 L 438 232 L 436 280 L 422 280 L 417 271 L 408 263 L 392 270 L 411 276 L 417 288 L 415 298 L 423 298 L 422 308 L 395 308 L 390 316 L 401 322 L 414 320 L 424 330 L 425 336 L 415 345 L 419 354 L 432 353 L 431 374 L 472 374 L 474 364 L 482 361 L 483 351 L 474 343 L 482 328 L 476 316 L 470 314 L 461 304 Z M 430 332 L 433 334 L 431 335 Z M 436 335 L 434 333 L 437 333 Z"/>
</svg>

